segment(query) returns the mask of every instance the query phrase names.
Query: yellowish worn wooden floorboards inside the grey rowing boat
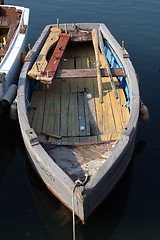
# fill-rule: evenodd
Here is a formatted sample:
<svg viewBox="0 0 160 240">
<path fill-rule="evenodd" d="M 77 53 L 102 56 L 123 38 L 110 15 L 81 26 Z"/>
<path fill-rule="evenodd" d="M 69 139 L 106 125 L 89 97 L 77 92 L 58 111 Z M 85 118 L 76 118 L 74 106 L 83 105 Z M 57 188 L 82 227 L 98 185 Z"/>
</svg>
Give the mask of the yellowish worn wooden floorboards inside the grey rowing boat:
<svg viewBox="0 0 160 240">
<path fill-rule="evenodd" d="M 95 68 L 93 46 L 71 48 L 64 54 L 61 68 Z M 73 58 L 74 56 L 74 58 Z M 101 58 L 100 58 L 101 59 Z M 103 60 L 103 59 L 101 59 Z M 104 67 L 103 61 L 101 67 Z M 119 82 L 114 78 L 116 86 Z M 117 87 L 115 98 L 108 77 L 102 78 L 103 99 L 100 103 L 97 78 L 54 79 L 49 89 L 39 84 L 30 104 L 35 110 L 28 112 L 31 127 L 40 141 L 93 142 L 118 139 L 128 123 L 129 110 L 123 105 L 126 97 Z M 50 133 L 57 137 L 44 136 Z"/>
</svg>

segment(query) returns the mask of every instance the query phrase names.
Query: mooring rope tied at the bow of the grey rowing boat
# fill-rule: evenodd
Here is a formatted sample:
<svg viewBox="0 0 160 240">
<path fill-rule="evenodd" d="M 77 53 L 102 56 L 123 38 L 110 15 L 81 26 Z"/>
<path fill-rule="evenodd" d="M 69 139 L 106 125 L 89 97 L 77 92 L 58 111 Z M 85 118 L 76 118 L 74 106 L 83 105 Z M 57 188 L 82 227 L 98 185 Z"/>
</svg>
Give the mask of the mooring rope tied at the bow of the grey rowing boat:
<svg viewBox="0 0 160 240">
<path fill-rule="evenodd" d="M 72 210 L 73 210 L 73 240 L 76 240 L 76 229 L 75 229 L 75 208 L 74 208 L 74 193 L 78 186 L 84 186 L 88 180 L 88 174 L 85 174 L 84 181 L 77 179 L 75 181 L 75 185 L 72 191 Z"/>
</svg>

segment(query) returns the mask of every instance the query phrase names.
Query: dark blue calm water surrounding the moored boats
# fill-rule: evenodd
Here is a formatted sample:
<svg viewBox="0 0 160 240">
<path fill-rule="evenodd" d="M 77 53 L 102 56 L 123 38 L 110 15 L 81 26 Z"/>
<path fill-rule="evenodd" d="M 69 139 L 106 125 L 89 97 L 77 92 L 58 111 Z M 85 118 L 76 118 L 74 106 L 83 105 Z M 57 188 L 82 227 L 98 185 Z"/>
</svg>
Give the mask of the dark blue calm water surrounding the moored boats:
<svg viewBox="0 0 160 240">
<path fill-rule="evenodd" d="M 31 9 L 28 43 L 46 24 L 104 22 L 125 47 L 140 77 L 140 91 L 150 111 L 139 122 L 136 149 L 125 176 L 85 226 L 80 240 L 160 239 L 160 1 L 159 0 L 6 0 Z M 35 176 L 19 126 L 0 121 L 0 239 L 72 239 L 72 219 Z"/>
</svg>

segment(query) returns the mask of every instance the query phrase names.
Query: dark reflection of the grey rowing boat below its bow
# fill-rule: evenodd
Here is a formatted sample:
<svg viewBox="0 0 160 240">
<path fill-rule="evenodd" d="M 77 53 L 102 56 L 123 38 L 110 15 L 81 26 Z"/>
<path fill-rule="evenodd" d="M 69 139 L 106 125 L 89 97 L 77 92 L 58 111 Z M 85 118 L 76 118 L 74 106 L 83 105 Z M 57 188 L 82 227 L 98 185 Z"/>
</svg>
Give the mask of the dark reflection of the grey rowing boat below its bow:
<svg viewBox="0 0 160 240">
<path fill-rule="evenodd" d="M 85 225 L 76 218 L 76 239 L 110 239 L 125 213 L 132 170 L 137 154 L 145 147 L 139 142 L 125 175 L 104 203 Z M 26 160 L 27 173 L 33 200 L 38 214 L 53 239 L 72 239 L 72 213 L 46 188 L 40 177 Z"/>
</svg>

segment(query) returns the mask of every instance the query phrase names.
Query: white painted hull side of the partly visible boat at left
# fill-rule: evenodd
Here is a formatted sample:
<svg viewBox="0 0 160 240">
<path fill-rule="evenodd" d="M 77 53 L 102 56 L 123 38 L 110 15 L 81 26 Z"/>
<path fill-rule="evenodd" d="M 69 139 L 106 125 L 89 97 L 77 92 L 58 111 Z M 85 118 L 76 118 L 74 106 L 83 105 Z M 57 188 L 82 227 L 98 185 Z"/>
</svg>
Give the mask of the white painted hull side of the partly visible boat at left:
<svg viewBox="0 0 160 240">
<path fill-rule="evenodd" d="M 20 24 L 16 30 L 16 34 L 14 39 L 5 54 L 2 62 L 0 63 L 0 73 L 4 73 L 5 82 L 0 83 L 0 100 L 3 98 L 4 94 L 7 92 L 9 86 L 13 83 L 17 83 L 18 74 L 20 71 L 20 60 L 21 54 L 25 50 L 26 47 L 26 39 L 28 32 L 28 23 L 29 23 L 29 9 L 19 6 L 8 6 L 3 5 L 3 7 L 15 7 L 18 10 L 22 10 L 22 17 L 20 20 Z M 26 25 L 25 33 L 20 33 L 20 28 L 22 26 L 22 22 Z"/>
</svg>

